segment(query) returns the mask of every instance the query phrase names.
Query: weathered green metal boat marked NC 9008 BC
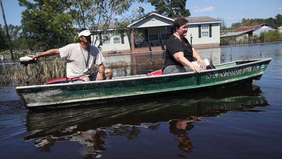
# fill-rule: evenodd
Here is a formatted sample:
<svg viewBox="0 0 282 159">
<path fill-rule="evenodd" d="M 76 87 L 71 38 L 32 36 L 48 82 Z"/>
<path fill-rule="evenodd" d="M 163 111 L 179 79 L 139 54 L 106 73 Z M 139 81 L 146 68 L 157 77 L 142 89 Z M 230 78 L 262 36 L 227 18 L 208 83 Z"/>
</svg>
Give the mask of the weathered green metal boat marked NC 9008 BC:
<svg viewBox="0 0 282 159">
<path fill-rule="evenodd" d="M 85 105 L 152 95 L 219 90 L 250 85 L 261 78 L 271 58 L 238 60 L 201 73 L 136 75 L 112 80 L 16 87 L 26 108 Z"/>
</svg>

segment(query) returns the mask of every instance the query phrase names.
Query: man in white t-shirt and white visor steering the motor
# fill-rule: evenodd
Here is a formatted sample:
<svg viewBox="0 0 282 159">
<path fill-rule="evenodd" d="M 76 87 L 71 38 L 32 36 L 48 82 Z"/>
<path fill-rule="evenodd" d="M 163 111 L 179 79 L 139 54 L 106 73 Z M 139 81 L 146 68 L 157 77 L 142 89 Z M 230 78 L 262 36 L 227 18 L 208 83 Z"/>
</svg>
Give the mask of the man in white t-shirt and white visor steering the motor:
<svg viewBox="0 0 282 159">
<path fill-rule="evenodd" d="M 105 69 L 103 62 L 105 61 L 100 50 L 90 45 L 91 35 L 89 30 L 83 28 L 78 31 L 78 39 L 80 43 L 68 44 L 60 49 L 50 49 L 42 54 L 28 55 L 33 59 L 47 57 L 60 54 L 62 58 L 67 59 L 67 77 L 81 78 L 87 81 L 110 80 L 113 72 L 111 69 Z M 94 64 L 98 65 L 98 72 L 91 73 Z"/>
</svg>

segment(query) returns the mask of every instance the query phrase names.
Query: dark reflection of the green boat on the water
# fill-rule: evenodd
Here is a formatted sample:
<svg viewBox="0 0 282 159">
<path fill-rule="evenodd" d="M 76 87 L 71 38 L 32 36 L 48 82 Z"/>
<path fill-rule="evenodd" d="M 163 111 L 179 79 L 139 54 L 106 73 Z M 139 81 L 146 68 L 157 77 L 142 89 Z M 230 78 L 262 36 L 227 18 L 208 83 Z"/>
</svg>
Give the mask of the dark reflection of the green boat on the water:
<svg viewBox="0 0 282 159">
<path fill-rule="evenodd" d="M 34 140 L 35 145 L 42 146 L 58 141 L 68 141 L 83 132 L 98 131 L 102 136 L 107 134 L 122 135 L 136 138 L 142 123 L 159 123 L 188 121 L 198 122 L 201 117 L 213 117 L 229 111 L 261 112 L 259 107 L 268 107 L 263 93 L 257 86 L 233 88 L 229 91 L 196 93 L 193 99 L 185 97 L 170 97 L 166 99 L 148 99 L 131 101 L 126 105 L 102 104 L 100 107 L 72 107 L 69 109 L 43 110 L 28 112 L 26 128 L 30 135 L 25 140 Z M 159 100 L 159 101 L 158 101 Z M 135 127 L 128 126 L 135 125 Z M 155 129 L 158 124 L 150 124 L 148 128 Z M 111 131 L 107 127 L 111 127 Z M 189 128 L 185 129 L 189 130 Z M 170 129 L 171 133 L 174 131 Z M 99 134 L 98 133 L 98 134 Z M 180 133 L 179 135 L 184 135 Z M 101 136 L 100 135 L 100 136 Z M 178 135 L 178 134 L 177 134 Z M 91 136 L 91 135 L 90 135 Z M 66 139 L 64 139 L 66 137 Z M 186 138 L 179 136 L 179 138 Z M 179 139 L 180 140 L 180 139 Z M 70 140 L 71 141 L 71 140 Z M 75 140 L 73 140 L 75 141 Z M 77 139 L 81 144 L 92 146 L 94 140 Z M 90 143 L 87 143 L 87 142 Z M 86 143 L 85 143 L 86 142 Z M 189 144 L 188 144 L 189 147 Z"/>
</svg>

